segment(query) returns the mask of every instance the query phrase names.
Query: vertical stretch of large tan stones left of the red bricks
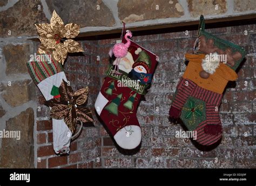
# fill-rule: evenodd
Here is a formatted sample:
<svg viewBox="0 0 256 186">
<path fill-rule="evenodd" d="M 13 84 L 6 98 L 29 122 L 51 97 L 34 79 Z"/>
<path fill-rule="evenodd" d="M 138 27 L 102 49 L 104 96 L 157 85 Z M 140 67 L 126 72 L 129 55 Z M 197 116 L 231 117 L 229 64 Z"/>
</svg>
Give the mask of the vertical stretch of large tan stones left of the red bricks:
<svg viewBox="0 0 256 186">
<path fill-rule="evenodd" d="M 0 130 L 20 131 L 20 140 L 0 138 L 0 167 L 34 167 L 36 88 L 26 61 L 32 42 L 10 38 L 0 42 Z"/>
</svg>

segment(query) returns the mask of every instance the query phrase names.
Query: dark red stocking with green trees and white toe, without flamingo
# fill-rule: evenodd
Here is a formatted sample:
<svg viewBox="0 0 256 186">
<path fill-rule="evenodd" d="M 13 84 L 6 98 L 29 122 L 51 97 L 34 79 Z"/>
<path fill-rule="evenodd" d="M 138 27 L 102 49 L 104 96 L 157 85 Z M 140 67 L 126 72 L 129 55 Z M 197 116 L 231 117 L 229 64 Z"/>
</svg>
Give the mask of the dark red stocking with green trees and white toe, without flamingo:
<svg viewBox="0 0 256 186">
<path fill-rule="evenodd" d="M 95 103 L 98 115 L 117 144 L 124 149 L 136 148 L 142 139 L 136 111 L 157 65 L 155 54 L 130 42 L 126 55 L 117 58 L 107 71 Z"/>
</svg>

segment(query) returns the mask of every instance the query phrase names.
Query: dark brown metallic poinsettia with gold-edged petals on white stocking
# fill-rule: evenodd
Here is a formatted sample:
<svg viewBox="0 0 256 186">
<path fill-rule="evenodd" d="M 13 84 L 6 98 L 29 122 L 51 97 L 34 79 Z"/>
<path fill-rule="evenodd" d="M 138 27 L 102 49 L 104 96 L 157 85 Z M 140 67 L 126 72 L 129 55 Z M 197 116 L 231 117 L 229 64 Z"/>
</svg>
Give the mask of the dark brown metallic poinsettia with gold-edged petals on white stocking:
<svg viewBox="0 0 256 186">
<path fill-rule="evenodd" d="M 84 107 L 87 94 L 88 87 L 74 93 L 68 83 L 62 80 L 59 87 L 60 97 L 46 101 L 46 104 L 51 107 L 50 117 L 64 119 L 72 133 L 75 132 L 77 120 L 83 123 L 93 121 L 91 111 Z"/>
</svg>

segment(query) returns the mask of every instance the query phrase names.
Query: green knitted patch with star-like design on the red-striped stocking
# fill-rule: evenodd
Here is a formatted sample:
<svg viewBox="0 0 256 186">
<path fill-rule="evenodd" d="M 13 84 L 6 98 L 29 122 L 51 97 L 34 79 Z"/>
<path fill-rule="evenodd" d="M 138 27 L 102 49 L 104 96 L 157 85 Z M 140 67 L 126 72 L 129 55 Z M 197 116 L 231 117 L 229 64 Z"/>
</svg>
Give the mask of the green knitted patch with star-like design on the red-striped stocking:
<svg viewBox="0 0 256 186">
<path fill-rule="evenodd" d="M 181 110 L 180 118 L 188 130 L 195 130 L 201 122 L 206 120 L 205 102 L 191 96 L 188 97 Z"/>
</svg>

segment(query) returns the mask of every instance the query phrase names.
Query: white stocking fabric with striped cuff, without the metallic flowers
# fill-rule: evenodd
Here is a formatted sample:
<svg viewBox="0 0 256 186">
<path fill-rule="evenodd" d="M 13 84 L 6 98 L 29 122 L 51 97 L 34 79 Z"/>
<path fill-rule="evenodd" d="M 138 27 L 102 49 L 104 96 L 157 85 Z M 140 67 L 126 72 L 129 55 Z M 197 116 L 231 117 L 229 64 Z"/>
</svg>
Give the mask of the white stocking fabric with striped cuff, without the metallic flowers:
<svg viewBox="0 0 256 186">
<path fill-rule="evenodd" d="M 37 87 L 41 90 L 46 101 L 59 97 L 58 87 L 62 80 L 66 80 L 62 65 L 53 59 L 50 61 L 40 60 L 42 56 L 38 55 L 37 61 L 27 62 L 27 67 Z M 53 130 L 53 149 L 55 153 L 69 153 L 70 139 L 72 133 L 65 124 L 64 119 L 52 119 Z"/>
</svg>

